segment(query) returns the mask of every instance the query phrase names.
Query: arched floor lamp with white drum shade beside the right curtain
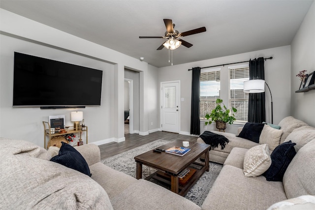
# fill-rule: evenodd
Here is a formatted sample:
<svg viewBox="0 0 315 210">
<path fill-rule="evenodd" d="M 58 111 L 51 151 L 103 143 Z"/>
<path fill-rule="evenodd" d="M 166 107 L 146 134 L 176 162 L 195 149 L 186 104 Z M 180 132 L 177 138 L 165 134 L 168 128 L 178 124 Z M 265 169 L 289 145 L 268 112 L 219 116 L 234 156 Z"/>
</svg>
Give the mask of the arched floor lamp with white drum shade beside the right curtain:
<svg viewBox="0 0 315 210">
<path fill-rule="evenodd" d="M 272 105 L 272 94 L 271 94 L 271 90 L 268 84 L 264 80 L 260 80 L 260 79 L 249 80 L 249 81 L 244 82 L 244 92 L 248 92 L 248 93 L 264 92 L 265 84 L 268 87 L 270 96 L 271 96 L 271 123 L 274 123 L 273 122 L 274 114 L 273 114 L 273 105 Z"/>
</svg>

